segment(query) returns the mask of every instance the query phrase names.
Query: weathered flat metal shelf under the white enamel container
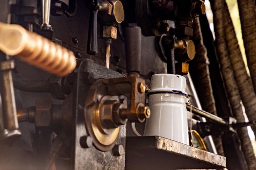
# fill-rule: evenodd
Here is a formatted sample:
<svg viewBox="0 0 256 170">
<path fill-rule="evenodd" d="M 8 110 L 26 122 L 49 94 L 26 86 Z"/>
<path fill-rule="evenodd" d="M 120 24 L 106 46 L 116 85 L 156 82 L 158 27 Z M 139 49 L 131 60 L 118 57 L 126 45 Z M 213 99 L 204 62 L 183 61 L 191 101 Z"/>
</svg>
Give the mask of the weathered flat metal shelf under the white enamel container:
<svg viewBox="0 0 256 170">
<path fill-rule="evenodd" d="M 159 136 L 126 137 L 125 170 L 219 169 L 226 157 Z"/>
</svg>

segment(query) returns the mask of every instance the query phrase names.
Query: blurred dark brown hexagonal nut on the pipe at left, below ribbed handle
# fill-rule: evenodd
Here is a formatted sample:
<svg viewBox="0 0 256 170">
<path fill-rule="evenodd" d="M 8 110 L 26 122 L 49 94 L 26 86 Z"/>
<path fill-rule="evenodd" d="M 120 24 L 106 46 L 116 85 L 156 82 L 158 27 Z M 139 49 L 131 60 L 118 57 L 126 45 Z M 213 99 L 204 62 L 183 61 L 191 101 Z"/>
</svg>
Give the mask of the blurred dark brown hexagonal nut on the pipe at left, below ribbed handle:
<svg viewBox="0 0 256 170">
<path fill-rule="evenodd" d="M 39 99 L 36 101 L 36 127 L 47 127 L 51 125 L 51 108 L 52 101 L 49 99 Z"/>
</svg>

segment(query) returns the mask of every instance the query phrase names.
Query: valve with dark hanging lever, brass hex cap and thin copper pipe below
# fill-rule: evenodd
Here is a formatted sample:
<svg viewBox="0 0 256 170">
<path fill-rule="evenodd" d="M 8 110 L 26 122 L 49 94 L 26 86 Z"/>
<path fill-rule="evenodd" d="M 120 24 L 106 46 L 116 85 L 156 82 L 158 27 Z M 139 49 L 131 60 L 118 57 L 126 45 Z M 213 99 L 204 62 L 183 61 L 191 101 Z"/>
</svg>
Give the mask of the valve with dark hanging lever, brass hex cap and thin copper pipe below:
<svg viewBox="0 0 256 170">
<path fill-rule="evenodd" d="M 120 0 L 87 0 L 86 6 L 90 9 L 87 53 L 95 55 L 97 47 L 98 12 L 102 23 L 102 37 L 105 39 L 105 67 L 109 68 L 110 45 L 117 39 L 117 25 L 124 20 L 123 5 Z"/>
</svg>

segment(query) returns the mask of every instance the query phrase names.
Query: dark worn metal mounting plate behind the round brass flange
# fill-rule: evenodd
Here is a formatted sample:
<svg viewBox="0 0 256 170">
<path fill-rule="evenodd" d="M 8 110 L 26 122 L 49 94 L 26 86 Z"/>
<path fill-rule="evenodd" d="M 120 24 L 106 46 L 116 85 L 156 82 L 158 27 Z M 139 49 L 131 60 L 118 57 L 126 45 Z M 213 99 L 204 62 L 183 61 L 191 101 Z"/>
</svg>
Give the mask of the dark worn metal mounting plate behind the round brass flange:
<svg viewBox="0 0 256 170">
<path fill-rule="evenodd" d="M 74 153 L 71 157 L 74 170 L 124 170 L 125 154 L 114 156 L 112 151 L 101 152 L 94 146 L 82 148 L 79 140 L 82 136 L 87 136 L 84 126 L 84 98 L 90 85 L 98 78 L 117 78 L 122 77 L 116 71 L 107 69 L 94 63 L 92 60 L 85 59 L 80 63 L 78 70 L 78 83 L 75 92 L 75 108 L 73 133 Z M 120 126 L 117 144 L 123 145 L 125 149 L 126 125 Z"/>
</svg>

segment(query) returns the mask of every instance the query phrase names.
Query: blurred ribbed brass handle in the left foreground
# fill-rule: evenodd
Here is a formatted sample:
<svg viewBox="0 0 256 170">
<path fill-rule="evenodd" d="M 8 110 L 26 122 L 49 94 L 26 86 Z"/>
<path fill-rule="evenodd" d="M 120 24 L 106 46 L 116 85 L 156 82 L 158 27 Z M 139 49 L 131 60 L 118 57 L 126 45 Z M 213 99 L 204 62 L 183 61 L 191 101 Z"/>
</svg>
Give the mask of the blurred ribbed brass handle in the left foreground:
<svg viewBox="0 0 256 170">
<path fill-rule="evenodd" d="M 0 22 L 0 50 L 59 77 L 72 72 L 76 57 L 72 51 L 26 31 L 20 25 Z"/>
</svg>

